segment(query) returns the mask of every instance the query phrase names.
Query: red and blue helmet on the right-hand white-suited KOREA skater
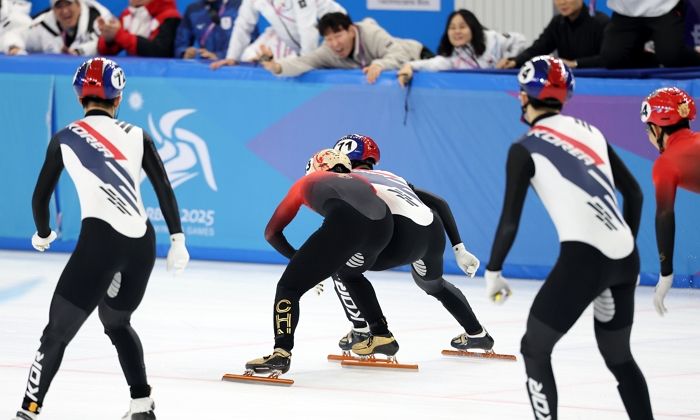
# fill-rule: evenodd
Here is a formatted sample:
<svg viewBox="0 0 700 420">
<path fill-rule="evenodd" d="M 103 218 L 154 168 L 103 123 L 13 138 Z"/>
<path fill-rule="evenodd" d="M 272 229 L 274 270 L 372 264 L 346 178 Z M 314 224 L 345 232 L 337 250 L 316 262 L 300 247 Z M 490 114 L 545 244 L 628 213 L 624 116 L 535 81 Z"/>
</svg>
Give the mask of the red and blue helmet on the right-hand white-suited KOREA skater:
<svg viewBox="0 0 700 420">
<path fill-rule="evenodd" d="M 569 66 L 558 58 L 541 55 L 520 68 L 520 90 L 541 102 L 561 104 L 574 94 L 574 75 Z"/>
</svg>

